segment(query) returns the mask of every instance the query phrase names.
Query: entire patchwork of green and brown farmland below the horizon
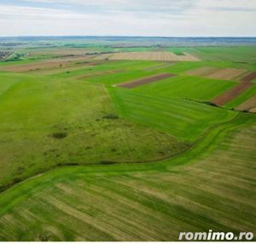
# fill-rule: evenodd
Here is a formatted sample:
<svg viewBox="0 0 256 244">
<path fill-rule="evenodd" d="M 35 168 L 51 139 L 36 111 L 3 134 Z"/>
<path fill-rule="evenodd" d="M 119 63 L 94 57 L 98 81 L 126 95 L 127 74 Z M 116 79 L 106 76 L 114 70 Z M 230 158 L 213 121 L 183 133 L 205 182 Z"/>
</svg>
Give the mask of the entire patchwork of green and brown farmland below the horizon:
<svg viewBox="0 0 256 244">
<path fill-rule="evenodd" d="M 0 241 L 256 231 L 255 46 L 137 38 L 0 42 Z"/>
</svg>

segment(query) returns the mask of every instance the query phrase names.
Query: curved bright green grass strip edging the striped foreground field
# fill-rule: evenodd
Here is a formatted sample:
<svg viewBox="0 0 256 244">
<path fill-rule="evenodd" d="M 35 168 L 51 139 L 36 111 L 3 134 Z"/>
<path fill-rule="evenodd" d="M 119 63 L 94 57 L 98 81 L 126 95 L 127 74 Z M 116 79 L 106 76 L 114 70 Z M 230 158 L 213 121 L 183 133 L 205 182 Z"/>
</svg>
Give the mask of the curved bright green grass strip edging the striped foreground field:
<svg viewBox="0 0 256 244">
<path fill-rule="evenodd" d="M 205 158 L 211 155 L 212 151 L 218 147 L 218 144 L 224 138 L 238 128 L 246 128 L 256 124 L 256 116 L 246 113 L 239 113 L 229 122 L 223 122 L 212 126 L 206 134 L 201 135 L 197 143 L 181 155 L 175 156 L 172 159 L 166 159 L 160 162 L 151 163 L 123 163 L 113 165 L 90 165 L 84 166 L 61 166 L 49 169 L 48 172 L 40 173 L 30 179 L 15 184 L 7 190 L 0 193 L 0 214 L 15 207 L 20 201 L 24 201 L 33 192 L 36 192 L 44 186 L 53 184 L 57 178 L 65 178 L 67 174 L 86 173 L 86 175 L 118 175 L 119 173 L 139 173 L 139 172 L 158 172 L 165 169 L 168 171 L 176 170 L 177 166 L 196 162 L 198 158 Z"/>
</svg>

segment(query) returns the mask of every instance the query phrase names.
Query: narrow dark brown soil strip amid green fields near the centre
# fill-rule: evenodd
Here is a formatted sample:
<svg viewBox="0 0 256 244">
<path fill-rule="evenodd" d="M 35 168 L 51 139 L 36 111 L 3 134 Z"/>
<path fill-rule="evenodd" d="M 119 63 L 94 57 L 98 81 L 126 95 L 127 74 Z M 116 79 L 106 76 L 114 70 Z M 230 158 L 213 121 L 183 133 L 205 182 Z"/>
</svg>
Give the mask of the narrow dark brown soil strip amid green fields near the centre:
<svg viewBox="0 0 256 244">
<path fill-rule="evenodd" d="M 174 75 L 174 74 L 165 73 L 165 74 L 160 74 L 157 76 L 145 77 L 143 79 L 138 79 L 138 80 L 131 81 L 131 82 L 119 83 L 117 86 L 121 87 L 121 88 L 136 88 L 137 86 L 141 86 L 141 85 L 148 84 L 151 82 L 158 82 L 162 79 L 165 79 L 168 77 L 175 77 L 175 76 L 176 75 Z"/>
</svg>

